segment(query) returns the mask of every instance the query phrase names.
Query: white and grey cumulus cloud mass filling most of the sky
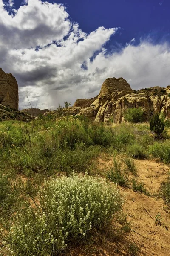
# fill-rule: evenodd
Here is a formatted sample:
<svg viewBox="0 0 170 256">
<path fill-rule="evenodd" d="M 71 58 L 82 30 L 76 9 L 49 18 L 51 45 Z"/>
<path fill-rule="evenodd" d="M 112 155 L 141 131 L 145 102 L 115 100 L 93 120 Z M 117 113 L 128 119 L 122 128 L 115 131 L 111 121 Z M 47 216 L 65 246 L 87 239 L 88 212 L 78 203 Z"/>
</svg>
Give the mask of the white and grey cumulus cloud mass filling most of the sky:
<svg viewBox="0 0 170 256">
<path fill-rule="evenodd" d="M 11 8 L 13 8 L 10 1 Z M 86 34 L 62 4 L 27 0 L 10 15 L 0 0 L 0 63 L 16 76 L 20 108 L 55 108 L 99 93 L 107 77 L 124 77 L 133 89 L 170 84 L 170 47 L 132 39 L 122 52 L 105 44 L 116 28 Z"/>
</svg>

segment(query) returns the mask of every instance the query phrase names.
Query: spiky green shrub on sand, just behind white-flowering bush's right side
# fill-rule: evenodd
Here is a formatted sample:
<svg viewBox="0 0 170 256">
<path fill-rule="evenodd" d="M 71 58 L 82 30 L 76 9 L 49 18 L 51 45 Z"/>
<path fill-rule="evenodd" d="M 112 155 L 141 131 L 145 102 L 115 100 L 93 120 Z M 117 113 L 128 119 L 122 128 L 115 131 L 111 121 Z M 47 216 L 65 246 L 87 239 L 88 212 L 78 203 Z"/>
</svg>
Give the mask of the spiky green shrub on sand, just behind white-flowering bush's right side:
<svg viewBox="0 0 170 256">
<path fill-rule="evenodd" d="M 107 178 L 120 186 L 129 186 L 129 175 L 122 169 L 122 164 L 114 160 L 114 167 L 107 172 Z"/>
</svg>

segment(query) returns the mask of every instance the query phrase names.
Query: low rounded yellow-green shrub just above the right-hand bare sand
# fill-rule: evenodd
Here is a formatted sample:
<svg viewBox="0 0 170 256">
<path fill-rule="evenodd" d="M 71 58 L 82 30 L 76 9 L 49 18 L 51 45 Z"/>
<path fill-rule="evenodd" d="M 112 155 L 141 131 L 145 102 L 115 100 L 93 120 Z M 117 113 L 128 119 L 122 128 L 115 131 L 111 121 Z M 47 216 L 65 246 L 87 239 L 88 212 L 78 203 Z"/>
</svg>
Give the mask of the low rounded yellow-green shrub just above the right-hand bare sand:
<svg viewBox="0 0 170 256">
<path fill-rule="evenodd" d="M 134 158 L 142 159 L 147 157 L 146 147 L 144 148 L 144 146 L 141 146 L 139 144 L 127 146 L 126 152 L 128 155 L 130 155 L 130 157 Z"/>
</svg>

